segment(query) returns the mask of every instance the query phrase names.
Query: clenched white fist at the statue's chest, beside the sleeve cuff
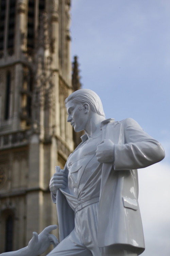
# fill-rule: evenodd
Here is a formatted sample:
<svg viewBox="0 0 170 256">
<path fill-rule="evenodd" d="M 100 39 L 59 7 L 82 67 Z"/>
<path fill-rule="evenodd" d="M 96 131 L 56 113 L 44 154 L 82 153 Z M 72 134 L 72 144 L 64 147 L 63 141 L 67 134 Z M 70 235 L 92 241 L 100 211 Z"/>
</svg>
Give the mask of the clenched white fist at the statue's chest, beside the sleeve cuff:
<svg viewBox="0 0 170 256">
<path fill-rule="evenodd" d="M 97 146 L 96 156 L 100 163 L 114 162 L 114 143 L 110 139 L 104 139 Z"/>
</svg>

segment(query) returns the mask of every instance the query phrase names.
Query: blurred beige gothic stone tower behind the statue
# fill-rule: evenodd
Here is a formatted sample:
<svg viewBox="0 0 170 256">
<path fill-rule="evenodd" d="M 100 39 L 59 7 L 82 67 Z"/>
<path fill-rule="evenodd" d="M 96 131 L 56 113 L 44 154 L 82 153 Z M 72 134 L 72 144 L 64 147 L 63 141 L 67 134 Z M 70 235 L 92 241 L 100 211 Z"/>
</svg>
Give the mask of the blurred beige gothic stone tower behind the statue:
<svg viewBox="0 0 170 256">
<path fill-rule="evenodd" d="M 57 224 L 49 181 L 74 147 L 64 100 L 78 89 L 69 23 L 69 0 L 0 0 L 0 253 Z"/>
</svg>

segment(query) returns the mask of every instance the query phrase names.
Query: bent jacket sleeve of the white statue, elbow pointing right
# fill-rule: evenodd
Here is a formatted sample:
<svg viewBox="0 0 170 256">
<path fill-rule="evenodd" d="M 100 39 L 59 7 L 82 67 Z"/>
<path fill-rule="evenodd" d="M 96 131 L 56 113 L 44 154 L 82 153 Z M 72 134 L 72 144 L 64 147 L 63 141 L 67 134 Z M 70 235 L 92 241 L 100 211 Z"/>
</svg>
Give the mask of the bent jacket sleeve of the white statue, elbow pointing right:
<svg viewBox="0 0 170 256">
<path fill-rule="evenodd" d="M 122 125 L 125 144 L 114 146 L 115 170 L 144 168 L 165 157 L 162 145 L 144 132 L 134 119 L 127 118 Z"/>
</svg>

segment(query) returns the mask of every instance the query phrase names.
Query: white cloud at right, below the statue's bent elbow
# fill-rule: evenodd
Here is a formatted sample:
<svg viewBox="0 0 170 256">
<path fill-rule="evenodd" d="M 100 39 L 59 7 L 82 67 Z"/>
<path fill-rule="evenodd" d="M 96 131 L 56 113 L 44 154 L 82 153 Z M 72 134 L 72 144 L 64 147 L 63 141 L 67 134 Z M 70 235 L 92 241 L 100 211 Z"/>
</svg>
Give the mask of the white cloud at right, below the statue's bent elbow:
<svg viewBox="0 0 170 256">
<path fill-rule="evenodd" d="M 170 165 L 157 163 L 139 173 L 139 204 L 146 250 L 143 256 L 170 252 Z"/>
</svg>

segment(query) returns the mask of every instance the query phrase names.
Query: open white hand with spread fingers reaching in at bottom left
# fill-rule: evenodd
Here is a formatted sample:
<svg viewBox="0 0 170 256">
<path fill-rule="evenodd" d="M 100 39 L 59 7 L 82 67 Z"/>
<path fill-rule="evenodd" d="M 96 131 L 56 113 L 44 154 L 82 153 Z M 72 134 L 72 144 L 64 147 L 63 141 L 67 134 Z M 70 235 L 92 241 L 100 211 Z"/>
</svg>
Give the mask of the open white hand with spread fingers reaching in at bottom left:
<svg viewBox="0 0 170 256">
<path fill-rule="evenodd" d="M 57 225 L 51 225 L 46 227 L 39 235 L 33 232 L 33 237 L 28 244 L 28 255 L 36 256 L 44 253 L 50 244 L 57 246 L 58 239 L 53 235 L 49 234 L 50 231 L 56 229 Z"/>
</svg>

